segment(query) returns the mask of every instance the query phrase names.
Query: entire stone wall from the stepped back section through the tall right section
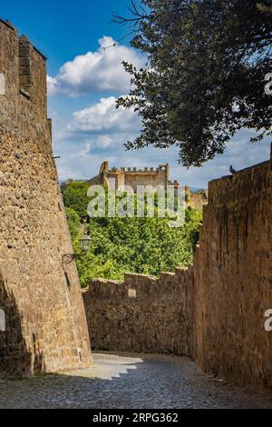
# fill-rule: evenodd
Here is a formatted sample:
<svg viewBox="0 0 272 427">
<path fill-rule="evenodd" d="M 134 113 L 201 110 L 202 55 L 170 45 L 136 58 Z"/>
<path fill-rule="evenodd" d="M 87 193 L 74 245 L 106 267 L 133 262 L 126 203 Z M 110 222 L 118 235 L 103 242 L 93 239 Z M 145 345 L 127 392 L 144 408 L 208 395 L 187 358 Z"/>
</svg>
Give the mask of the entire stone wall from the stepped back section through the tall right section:
<svg viewBox="0 0 272 427">
<path fill-rule="evenodd" d="M 186 354 L 206 372 L 272 390 L 272 160 L 209 184 L 194 263 L 83 292 L 96 350 Z"/>
</svg>

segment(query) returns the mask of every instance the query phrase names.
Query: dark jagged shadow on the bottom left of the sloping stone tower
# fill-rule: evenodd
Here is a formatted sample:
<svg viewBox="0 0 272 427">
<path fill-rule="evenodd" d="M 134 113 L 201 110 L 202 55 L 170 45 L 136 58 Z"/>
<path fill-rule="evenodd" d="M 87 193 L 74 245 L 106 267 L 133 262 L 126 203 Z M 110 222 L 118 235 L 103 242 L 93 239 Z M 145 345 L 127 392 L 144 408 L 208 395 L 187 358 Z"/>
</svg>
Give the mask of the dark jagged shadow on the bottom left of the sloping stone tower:
<svg viewBox="0 0 272 427">
<path fill-rule="evenodd" d="M 33 334 L 34 355 L 23 337 L 23 317 L 15 302 L 15 295 L 5 284 L 4 274 L 0 271 L 0 310 L 2 327 L 0 331 L 0 378 L 11 376 L 29 376 L 43 371 L 43 354 L 36 348 Z M 4 317 L 5 313 L 5 317 Z M 5 325 L 3 324 L 5 321 Z M 5 327 L 3 327 L 5 326 Z"/>
</svg>

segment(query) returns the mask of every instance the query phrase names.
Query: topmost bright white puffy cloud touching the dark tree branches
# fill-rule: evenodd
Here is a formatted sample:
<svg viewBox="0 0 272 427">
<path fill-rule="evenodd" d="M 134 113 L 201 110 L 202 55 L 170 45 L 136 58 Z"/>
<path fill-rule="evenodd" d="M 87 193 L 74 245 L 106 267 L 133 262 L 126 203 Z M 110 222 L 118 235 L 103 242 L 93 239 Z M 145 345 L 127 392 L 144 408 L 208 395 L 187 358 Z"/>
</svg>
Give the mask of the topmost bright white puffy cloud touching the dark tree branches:
<svg viewBox="0 0 272 427">
<path fill-rule="evenodd" d="M 99 45 L 96 52 L 76 56 L 73 61 L 65 63 L 55 77 L 48 76 L 49 94 L 127 93 L 131 77 L 124 71 L 121 62 L 125 60 L 141 67 L 144 58 L 131 47 L 114 42 L 109 36 L 103 36 Z"/>
</svg>

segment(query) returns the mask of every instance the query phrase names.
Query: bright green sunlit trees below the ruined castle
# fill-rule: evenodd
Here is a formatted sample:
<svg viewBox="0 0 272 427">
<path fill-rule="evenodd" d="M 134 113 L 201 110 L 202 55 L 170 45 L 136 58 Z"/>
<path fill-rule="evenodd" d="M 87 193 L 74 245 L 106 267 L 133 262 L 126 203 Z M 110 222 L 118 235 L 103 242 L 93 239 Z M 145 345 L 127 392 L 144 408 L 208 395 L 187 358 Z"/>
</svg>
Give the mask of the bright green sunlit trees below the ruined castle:
<svg viewBox="0 0 272 427">
<path fill-rule="evenodd" d="M 188 208 L 186 223 L 170 228 L 168 218 L 93 218 L 86 223 L 84 185 L 70 184 L 63 192 L 75 253 L 81 253 L 83 228 L 91 236 L 91 250 L 77 261 L 81 283 L 86 286 L 95 277 L 122 280 L 124 273 L 159 275 L 189 265 L 198 241 L 202 214 Z M 73 194 L 73 197 L 72 197 Z M 135 202 L 136 206 L 136 202 Z"/>
</svg>

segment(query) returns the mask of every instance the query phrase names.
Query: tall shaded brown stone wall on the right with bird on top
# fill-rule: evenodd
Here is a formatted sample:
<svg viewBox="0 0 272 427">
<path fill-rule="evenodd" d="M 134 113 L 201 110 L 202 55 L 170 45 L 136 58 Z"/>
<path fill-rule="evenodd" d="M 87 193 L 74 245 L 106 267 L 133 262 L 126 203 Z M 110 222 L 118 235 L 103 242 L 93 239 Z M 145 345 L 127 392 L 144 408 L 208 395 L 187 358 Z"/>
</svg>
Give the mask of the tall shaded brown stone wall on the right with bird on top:
<svg viewBox="0 0 272 427">
<path fill-rule="evenodd" d="M 239 385 L 271 388 L 271 162 L 209 184 L 194 274 L 196 360 Z"/>
</svg>

